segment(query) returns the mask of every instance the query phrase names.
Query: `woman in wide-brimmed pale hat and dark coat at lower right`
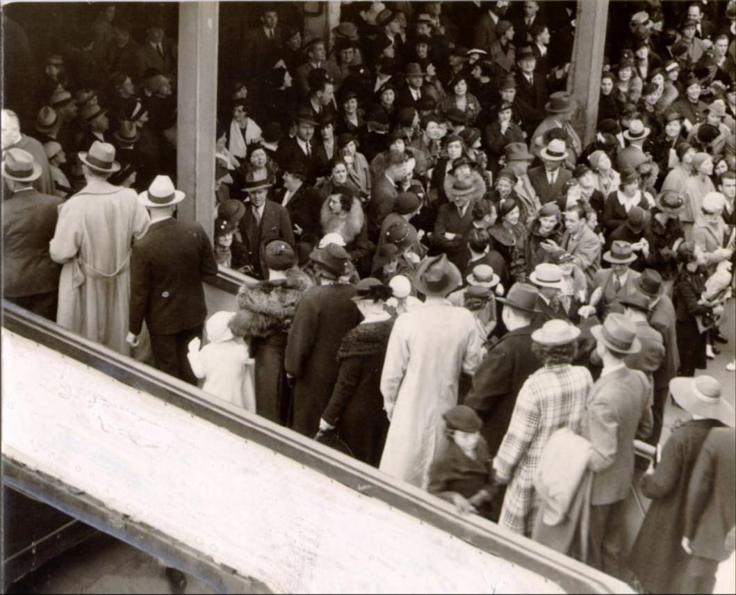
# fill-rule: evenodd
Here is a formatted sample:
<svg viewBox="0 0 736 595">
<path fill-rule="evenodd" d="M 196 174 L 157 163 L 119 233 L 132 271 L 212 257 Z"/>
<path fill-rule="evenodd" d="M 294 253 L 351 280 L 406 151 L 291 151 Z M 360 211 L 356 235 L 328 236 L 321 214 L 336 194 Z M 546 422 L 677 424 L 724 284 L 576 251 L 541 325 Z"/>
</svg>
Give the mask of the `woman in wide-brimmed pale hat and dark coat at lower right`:
<svg viewBox="0 0 736 595">
<path fill-rule="evenodd" d="M 687 420 L 673 430 L 657 468 L 641 479 L 642 492 L 652 502 L 631 549 L 629 566 L 648 593 L 684 592 L 681 580 L 690 556 L 680 542 L 684 535 L 687 486 L 708 432 L 723 427 L 721 420 L 715 419 L 719 417 L 715 409 L 707 410 L 712 409 L 710 405 L 694 396 L 688 397 L 687 392 L 692 392 L 690 381 L 675 379 L 670 387 L 677 404 L 698 415 L 698 419 Z M 698 383 L 720 392 L 718 381 L 709 376 L 699 376 Z M 721 406 L 721 409 L 727 413 L 728 407 Z"/>
</svg>

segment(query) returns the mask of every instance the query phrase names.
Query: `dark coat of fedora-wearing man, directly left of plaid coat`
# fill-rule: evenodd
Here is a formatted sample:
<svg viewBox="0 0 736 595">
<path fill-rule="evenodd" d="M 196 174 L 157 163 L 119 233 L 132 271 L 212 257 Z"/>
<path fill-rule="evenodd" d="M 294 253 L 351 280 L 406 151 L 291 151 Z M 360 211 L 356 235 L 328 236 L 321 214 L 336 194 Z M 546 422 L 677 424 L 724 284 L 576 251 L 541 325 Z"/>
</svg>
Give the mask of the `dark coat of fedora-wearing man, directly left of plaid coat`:
<svg viewBox="0 0 736 595">
<path fill-rule="evenodd" d="M 483 422 L 481 433 L 490 453 L 496 454 L 509 429 L 516 395 L 524 382 L 539 368 L 531 351 L 531 326 L 506 333 L 486 353 L 473 376 L 473 388 L 465 404 L 473 407 Z"/>
</svg>

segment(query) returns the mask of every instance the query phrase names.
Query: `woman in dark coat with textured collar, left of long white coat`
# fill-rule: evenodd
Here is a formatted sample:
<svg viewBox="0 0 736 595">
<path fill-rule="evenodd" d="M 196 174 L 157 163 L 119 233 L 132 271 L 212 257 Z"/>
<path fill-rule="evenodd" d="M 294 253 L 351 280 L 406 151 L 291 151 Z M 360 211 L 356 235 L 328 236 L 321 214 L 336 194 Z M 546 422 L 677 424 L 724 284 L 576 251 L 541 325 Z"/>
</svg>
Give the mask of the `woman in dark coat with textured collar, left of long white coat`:
<svg viewBox="0 0 736 595">
<path fill-rule="evenodd" d="M 393 326 L 383 304 L 391 289 L 369 277 L 358 283 L 353 301 L 361 323 L 343 337 L 337 352 L 337 382 L 319 420 L 319 429 L 335 430 L 355 458 L 378 467 L 389 431 L 383 410 L 381 372 Z"/>
</svg>

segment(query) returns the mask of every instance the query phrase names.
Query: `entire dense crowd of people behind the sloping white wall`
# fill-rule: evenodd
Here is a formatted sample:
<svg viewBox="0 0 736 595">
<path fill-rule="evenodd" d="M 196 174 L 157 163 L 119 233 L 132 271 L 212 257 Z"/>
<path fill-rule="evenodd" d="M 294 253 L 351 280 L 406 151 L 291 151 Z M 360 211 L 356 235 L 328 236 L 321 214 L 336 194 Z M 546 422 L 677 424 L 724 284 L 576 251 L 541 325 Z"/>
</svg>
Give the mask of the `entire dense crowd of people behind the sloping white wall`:
<svg viewBox="0 0 736 595">
<path fill-rule="evenodd" d="M 616 6 L 597 109 L 565 91 L 574 2 L 479 4 L 345 4 L 329 39 L 249 6 L 211 239 L 176 217 L 176 43 L 101 4 L 35 130 L 4 106 L 3 295 L 647 592 L 712 592 L 736 421 L 696 370 L 734 289 L 736 2 Z M 208 313 L 218 265 L 249 281 Z"/>
</svg>

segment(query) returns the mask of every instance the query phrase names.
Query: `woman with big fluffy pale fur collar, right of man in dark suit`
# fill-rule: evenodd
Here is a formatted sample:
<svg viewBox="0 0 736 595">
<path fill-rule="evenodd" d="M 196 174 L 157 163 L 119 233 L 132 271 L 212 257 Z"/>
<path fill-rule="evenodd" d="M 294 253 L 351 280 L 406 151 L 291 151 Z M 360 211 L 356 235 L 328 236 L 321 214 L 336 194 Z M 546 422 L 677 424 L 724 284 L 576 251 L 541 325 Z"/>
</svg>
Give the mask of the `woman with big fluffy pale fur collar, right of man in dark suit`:
<svg viewBox="0 0 736 595">
<path fill-rule="evenodd" d="M 343 190 L 347 191 L 347 188 Z M 319 214 L 322 236 L 339 233 L 345 240 L 345 251 L 355 264 L 358 274 L 366 275 L 370 270 L 368 225 L 361 201 L 352 194 L 330 194 L 322 203 Z"/>
</svg>

